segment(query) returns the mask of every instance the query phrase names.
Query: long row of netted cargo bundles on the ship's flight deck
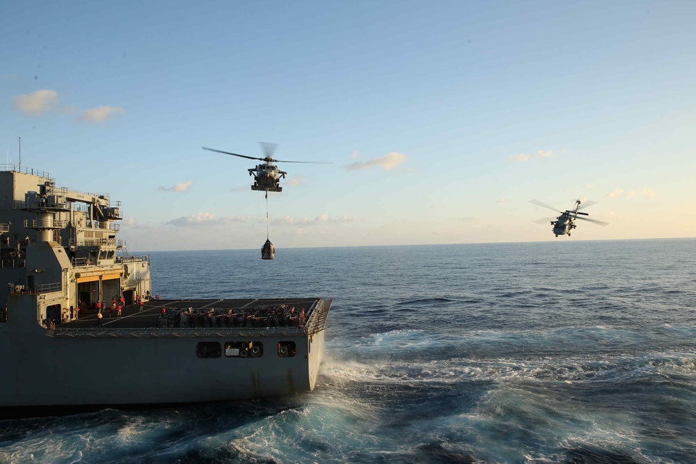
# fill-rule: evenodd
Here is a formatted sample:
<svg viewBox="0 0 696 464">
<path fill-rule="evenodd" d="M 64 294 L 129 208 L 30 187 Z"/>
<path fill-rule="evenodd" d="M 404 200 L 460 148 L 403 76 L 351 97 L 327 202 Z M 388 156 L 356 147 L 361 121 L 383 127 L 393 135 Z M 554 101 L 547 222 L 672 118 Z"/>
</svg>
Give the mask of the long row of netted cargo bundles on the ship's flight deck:
<svg viewBox="0 0 696 464">
<path fill-rule="evenodd" d="M 290 305 L 255 306 L 251 311 L 163 307 L 158 328 L 302 327 L 305 310 Z"/>
</svg>

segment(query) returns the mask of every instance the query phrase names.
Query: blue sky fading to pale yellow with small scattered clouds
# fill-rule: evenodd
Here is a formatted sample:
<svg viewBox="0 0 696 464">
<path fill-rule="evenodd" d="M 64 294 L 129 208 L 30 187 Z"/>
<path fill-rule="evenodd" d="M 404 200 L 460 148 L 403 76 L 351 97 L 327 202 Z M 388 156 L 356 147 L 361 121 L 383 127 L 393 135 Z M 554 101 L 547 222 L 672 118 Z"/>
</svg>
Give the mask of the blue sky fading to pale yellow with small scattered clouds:
<svg viewBox="0 0 696 464">
<path fill-rule="evenodd" d="M 131 253 L 696 237 L 696 2 L 0 6 L 5 160 Z M 281 193 L 251 191 L 255 161 Z M 571 237 L 535 222 L 592 200 Z M 267 216 L 268 211 L 268 216 Z"/>
</svg>

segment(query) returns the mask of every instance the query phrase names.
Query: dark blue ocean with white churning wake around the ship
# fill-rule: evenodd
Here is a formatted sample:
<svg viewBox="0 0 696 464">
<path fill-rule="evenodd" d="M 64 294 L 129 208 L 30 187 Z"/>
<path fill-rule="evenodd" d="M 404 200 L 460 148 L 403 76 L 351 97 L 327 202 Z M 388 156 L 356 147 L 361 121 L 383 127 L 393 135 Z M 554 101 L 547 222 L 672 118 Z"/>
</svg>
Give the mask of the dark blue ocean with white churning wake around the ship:
<svg viewBox="0 0 696 464">
<path fill-rule="evenodd" d="M 260 257 L 150 253 L 152 288 L 334 298 L 314 392 L 1 421 L 0 462 L 696 462 L 696 239 Z"/>
</svg>

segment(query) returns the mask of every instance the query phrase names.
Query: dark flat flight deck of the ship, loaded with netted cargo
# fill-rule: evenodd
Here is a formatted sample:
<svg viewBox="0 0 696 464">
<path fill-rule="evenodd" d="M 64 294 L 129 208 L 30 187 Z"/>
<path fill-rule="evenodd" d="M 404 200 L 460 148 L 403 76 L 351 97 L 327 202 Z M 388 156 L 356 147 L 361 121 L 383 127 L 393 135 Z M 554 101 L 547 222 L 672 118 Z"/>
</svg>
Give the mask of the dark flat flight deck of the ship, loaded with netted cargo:
<svg viewBox="0 0 696 464">
<path fill-rule="evenodd" d="M 300 328 L 321 298 L 150 300 L 126 305 L 120 317 L 102 310 L 102 329 L 297 327 Z M 329 303 L 330 304 L 330 303 Z M 166 310 L 162 312 L 163 308 Z M 184 317 L 180 314 L 184 313 Z M 56 331 L 97 327 L 97 311 L 81 310 L 77 321 L 60 323 Z"/>
</svg>

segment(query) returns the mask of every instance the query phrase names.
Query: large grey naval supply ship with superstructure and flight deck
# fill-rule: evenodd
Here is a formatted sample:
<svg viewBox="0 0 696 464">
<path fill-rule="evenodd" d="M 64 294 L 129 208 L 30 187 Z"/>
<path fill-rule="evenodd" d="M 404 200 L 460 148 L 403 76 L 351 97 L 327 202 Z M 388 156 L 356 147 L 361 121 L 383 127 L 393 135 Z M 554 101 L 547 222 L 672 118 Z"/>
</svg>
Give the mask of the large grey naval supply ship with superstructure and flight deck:
<svg viewBox="0 0 696 464">
<path fill-rule="evenodd" d="M 121 219 L 108 194 L 0 169 L 2 415 L 314 389 L 331 299 L 159 299 Z"/>
</svg>

